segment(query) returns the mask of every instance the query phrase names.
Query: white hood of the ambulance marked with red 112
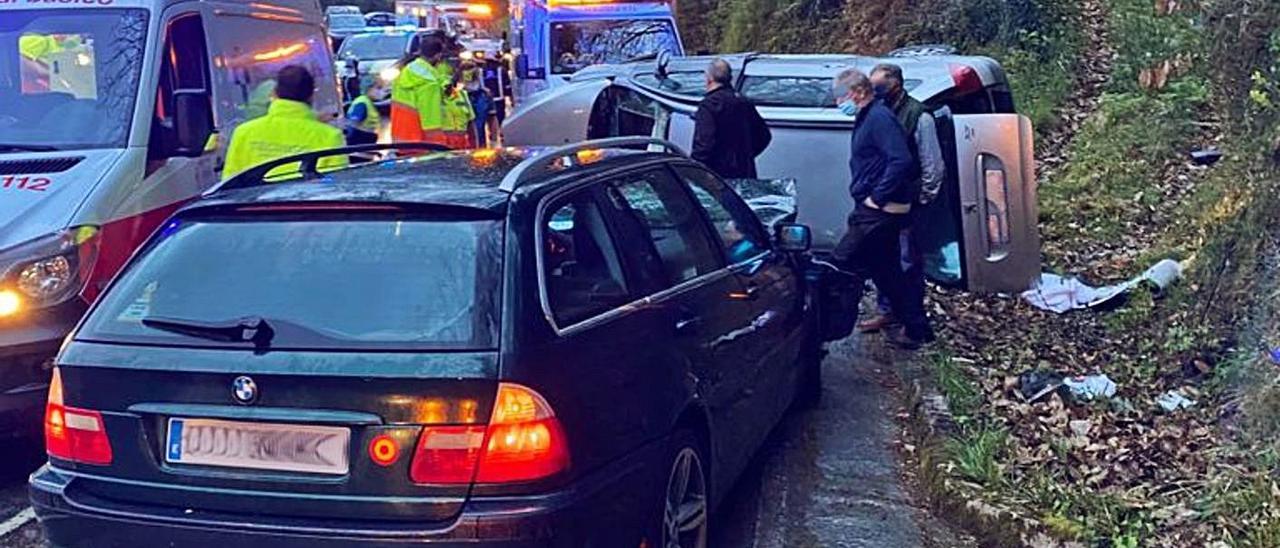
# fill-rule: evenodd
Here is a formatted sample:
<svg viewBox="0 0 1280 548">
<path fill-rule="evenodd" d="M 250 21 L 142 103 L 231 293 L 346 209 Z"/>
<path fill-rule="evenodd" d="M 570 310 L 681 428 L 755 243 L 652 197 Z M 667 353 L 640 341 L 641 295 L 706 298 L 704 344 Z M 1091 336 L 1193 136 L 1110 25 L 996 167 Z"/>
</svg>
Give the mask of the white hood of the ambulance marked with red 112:
<svg viewBox="0 0 1280 548">
<path fill-rule="evenodd" d="M 68 227 L 123 150 L 0 154 L 0 250 Z M 12 174 L 10 174 L 12 172 Z"/>
</svg>

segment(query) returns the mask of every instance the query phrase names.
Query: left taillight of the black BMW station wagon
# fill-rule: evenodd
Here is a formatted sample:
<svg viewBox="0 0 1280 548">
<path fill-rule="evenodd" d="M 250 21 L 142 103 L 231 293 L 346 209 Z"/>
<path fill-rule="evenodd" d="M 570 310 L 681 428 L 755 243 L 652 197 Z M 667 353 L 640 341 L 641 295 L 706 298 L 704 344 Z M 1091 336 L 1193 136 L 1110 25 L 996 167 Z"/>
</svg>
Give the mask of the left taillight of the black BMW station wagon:
<svg viewBox="0 0 1280 548">
<path fill-rule="evenodd" d="M 110 465 L 111 442 L 102 414 L 63 402 L 63 375 L 54 369 L 45 407 L 45 451 L 49 456 L 86 465 Z"/>
</svg>

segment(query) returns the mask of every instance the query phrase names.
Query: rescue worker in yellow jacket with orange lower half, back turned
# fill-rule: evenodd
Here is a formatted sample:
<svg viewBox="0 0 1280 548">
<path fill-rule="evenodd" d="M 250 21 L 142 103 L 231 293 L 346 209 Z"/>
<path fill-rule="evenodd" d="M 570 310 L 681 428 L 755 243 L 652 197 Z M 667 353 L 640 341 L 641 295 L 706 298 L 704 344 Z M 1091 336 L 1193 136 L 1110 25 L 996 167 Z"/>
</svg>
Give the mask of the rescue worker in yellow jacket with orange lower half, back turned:
<svg viewBox="0 0 1280 548">
<path fill-rule="evenodd" d="M 452 69 L 439 38 L 422 40 L 417 59 L 392 83 L 392 141 L 449 146 L 444 123 Z"/>
</svg>

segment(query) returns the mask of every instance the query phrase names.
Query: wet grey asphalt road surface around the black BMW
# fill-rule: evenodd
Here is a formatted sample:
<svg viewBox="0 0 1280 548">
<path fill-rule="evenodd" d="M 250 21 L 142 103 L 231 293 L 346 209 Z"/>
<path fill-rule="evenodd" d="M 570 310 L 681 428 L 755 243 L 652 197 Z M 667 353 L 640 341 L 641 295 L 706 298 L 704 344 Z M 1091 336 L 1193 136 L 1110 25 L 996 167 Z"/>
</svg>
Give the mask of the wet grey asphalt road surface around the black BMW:
<svg viewBox="0 0 1280 548">
<path fill-rule="evenodd" d="M 713 517 L 710 545 L 730 548 L 960 547 L 913 503 L 893 449 L 899 431 L 890 353 L 836 343 L 824 366 L 822 403 L 792 412 Z M 15 451 L 10 451 L 15 449 Z M 35 451 L 0 455 L 0 531 L 26 507 Z M 36 522 L 0 547 L 45 547 Z"/>
</svg>

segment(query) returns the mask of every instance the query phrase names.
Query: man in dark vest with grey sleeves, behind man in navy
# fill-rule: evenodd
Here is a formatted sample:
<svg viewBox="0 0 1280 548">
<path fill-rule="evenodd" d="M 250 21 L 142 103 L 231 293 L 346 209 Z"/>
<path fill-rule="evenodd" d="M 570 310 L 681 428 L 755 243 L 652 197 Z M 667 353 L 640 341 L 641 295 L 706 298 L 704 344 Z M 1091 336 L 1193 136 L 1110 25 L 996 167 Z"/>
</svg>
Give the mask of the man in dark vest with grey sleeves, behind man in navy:
<svg viewBox="0 0 1280 548">
<path fill-rule="evenodd" d="M 924 259 L 920 256 L 920 246 L 915 239 L 923 232 L 922 223 L 929 222 L 929 215 L 924 211 L 942 189 L 942 181 L 946 178 L 946 161 L 942 159 L 942 146 L 938 142 L 938 132 L 933 115 L 925 111 L 924 104 L 916 101 L 906 93 L 902 87 L 902 69 L 893 64 L 879 64 L 872 69 L 872 88 L 876 96 L 893 110 L 897 120 L 909 133 L 911 151 L 920 168 L 920 198 L 911 211 L 911 223 L 902 229 L 900 236 L 902 247 L 902 273 L 905 274 L 905 289 L 911 292 L 910 298 L 924 300 Z M 916 297 L 916 294 L 919 297 Z M 902 312 L 895 314 L 888 302 L 888 296 L 883 291 L 878 298 L 879 314 L 858 324 L 863 333 L 874 333 L 890 329 L 899 324 L 897 318 Z M 923 307 L 920 311 L 923 312 Z"/>
</svg>

